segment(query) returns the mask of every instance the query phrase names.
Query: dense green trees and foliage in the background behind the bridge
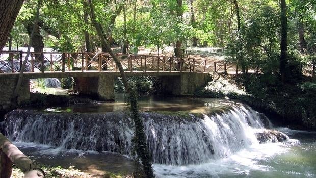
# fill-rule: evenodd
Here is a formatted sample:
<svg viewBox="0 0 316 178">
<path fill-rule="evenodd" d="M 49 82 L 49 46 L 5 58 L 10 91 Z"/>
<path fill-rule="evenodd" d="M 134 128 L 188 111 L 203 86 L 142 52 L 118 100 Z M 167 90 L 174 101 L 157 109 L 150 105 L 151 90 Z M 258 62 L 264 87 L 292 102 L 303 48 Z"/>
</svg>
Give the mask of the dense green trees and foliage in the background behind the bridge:
<svg viewBox="0 0 316 178">
<path fill-rule="evenodd" d="M 191 45 L 220 47 L 225 51 L 225 60 L 238 62 L 246 69 L 244 72 L 247 69 L 269 75 L 280 72 L 279 1 L 94 0 L 92 3 L 102 33 L 123 52 L 137 53 L 139 47 L 149 47 L 161 53 L 170 45 L 174 48 L 180 45 L 181 49 Z M 316 2 L 288 0 L 286 4 L 286 69 L 290 74 L 301 74 L 303 66 L 315 62 Z M 35 5 L 34 0 L 24 1 L 8 45 L 19 47 L 28 43 Z M 59 51 L 106 51 L 92 26 L 89 11 L 85 0 L 46 1 L 41 8 L 38 34 L 41 38 L 34 43 Z"/>
</svg>

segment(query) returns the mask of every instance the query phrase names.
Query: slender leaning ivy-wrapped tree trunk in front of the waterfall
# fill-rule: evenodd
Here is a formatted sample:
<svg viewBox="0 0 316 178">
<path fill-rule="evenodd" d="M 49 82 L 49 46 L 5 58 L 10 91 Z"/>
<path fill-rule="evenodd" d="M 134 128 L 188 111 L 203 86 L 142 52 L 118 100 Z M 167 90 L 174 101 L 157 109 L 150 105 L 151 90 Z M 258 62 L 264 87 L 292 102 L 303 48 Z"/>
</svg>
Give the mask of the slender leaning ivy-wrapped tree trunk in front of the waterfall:
<svg viewBox="0 0 316 178">
<path fill-rule="evenodd" d="M 143 164 L 143 168 L 144 168 L 144 173 L 146 174 L 147 178 L 151 178 L 154 177 L 153 175 L 153 170 L 152 170 L 152 165 L 151 165 L 151 158 L 149 156 L 149 152 L 148 152 L 148 147 L 147 147 L 147 142 L 146 142 L 146 137 L 145 137 L 145 133 L 144 133 L 144 127 L 143 127 L 143 121 L 139 116 L 139 112 L 138 112 L 138 104 L 137 104 L 137 99 L 136 99 L 136 90 L 131 89 L 124 69 L 122 67 L 122 64 L 120 62 L 120 60 L 118 59 L 118 57 L 114 54 L 114 52 L 112 51 L 109 43 L 107 42 L 107 39 L 104 37 L 104 35 L 102 34 L 102 30 L 99 26 L 99 23 L 97 23 L 95 21 L 95 15 L 94 15 L 94 10 L 93 10 L 93 5 L 91 0 L 88 0 L 89 5 L 90 5 L 90 13 L 91 13 L 91 20 L 92 20 L 92 24 L 95 27 L 99 37 L 101 38 L 101 42 L 103 44 L 103 46 L 105 46 L 109 52 L 109 54 L 111 55 L 111 57 L 113 58 L 115 64 L 118 66 L 118 69 L 120 71 L 122 80 L 123 80 L 123 84 L 125 86 L 125 90 L 127 93 L 129 93 L 130 97 L 129 97 L 129 101 L 130 101 L 130 111 L 131 111 L 131 118 L 134 121 L 134 129 L 135 129 L 135 136 L 133 138 L 133 142 L 134 142 L 134 149 L 137 152 L 138 157 L 141 159 L 142 164 Z"/>
</svg>

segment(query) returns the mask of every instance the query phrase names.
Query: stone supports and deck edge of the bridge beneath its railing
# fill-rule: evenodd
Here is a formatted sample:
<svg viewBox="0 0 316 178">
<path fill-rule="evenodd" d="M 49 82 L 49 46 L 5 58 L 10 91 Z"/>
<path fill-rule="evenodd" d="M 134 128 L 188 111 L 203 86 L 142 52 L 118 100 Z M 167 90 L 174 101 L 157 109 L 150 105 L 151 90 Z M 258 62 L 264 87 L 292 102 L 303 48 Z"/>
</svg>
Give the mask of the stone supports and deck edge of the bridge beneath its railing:
<svg viewBox="0 0 316 178">
<path fill-rule="evenodd" d="M 158 78 L 162 94 L 192 95 L 207 84 L 212 77 L 207 72 L 126 72 L 131 76 L 154 76 Z M 81 95 L 94 96 L 98 100 L 114 100 L 114 81 L 119 72 L 26 72 L 18 95 L 18 103 L 30 99 L 30 80 L 38 78 L 74 77 L 74 90 Z M 0 110 L 10 106 L 11 95 L 18 80 L 18 73 L 0 75 Z"/>
</svg>

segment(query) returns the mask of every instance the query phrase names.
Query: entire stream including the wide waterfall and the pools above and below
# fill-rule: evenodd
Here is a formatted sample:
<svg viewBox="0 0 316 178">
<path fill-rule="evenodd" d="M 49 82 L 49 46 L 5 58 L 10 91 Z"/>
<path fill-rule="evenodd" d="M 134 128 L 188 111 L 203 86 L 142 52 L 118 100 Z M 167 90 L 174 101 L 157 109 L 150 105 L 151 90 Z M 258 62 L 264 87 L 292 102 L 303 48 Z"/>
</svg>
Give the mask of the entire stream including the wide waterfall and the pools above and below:
<svg viewBox="0 0 316 178">
<path fill-rule="evenodd" d="M 5 134 L 41 164 L 130 174 L 133 125 L 124 101 L 14 110 Z M 275 128 L 239 101 L 146 96 L 139 106 L 156 177 L 316 176 L 316 132 Z M 264 142 L 258 133 L 268 133 Z"/>
</svg>

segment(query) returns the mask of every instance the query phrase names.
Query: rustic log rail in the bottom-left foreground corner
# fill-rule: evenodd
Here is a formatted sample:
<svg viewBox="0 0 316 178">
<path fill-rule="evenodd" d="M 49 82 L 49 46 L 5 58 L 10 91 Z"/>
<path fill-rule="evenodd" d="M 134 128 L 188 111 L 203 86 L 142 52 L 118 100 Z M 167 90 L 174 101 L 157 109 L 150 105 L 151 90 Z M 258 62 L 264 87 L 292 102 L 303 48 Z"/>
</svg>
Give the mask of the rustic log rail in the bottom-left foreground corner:
<svg viewBox="0 0 316 178">
<path fill-rule="evenodd" d="M 10 178 L 12 164 L 20 168 L 25 178 L 45 177 L 44 171 L 25 156 L 14 144 L 0 133 L 0 177 Z"/>
</svg>

